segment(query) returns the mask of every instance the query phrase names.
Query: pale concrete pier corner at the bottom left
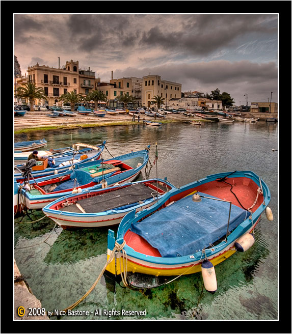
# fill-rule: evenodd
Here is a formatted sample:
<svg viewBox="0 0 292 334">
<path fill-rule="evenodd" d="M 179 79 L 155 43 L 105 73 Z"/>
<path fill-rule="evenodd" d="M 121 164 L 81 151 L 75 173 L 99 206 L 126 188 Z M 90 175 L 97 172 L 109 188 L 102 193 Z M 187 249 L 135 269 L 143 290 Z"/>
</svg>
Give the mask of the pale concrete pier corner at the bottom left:
<svg viewBox="0 0 292 334">
<path fill-rule="evenodd" d="M 40 315 L 30 315 L 30 312 Z M 49 320 L 42 313 L 41 302 L 25 283 L 14 260 L 14 320 Z"/>
</svg>

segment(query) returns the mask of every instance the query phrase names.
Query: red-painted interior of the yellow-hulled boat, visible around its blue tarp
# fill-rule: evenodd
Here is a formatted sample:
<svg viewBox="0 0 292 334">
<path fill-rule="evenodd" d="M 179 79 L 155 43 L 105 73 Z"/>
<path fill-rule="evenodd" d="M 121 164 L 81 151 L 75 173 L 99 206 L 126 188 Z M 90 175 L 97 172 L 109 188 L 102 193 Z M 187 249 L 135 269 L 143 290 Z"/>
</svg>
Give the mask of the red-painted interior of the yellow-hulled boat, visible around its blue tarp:
<svg viewBox="0 0 292 334">
<path fill-rule="evenodd" d="M 258 186 L 249 178 L 238 177 L 238 178 L 226 178 L 223 181 L 211 181 L 205 184 L 201 184 L 188 191 L 181 192 L 176 196 L 171 197 L 165 206 L 170 204 L 172 201 L 178 201 L 179 199 L 188 196 L 194 191 L 200 191 L 206 195 L 215 196 L 222 200 L 230 201 L 233 205 L 238 207 L 249 209 L 257 197 Z M 236 196 L 235 196 L 235 195 Z M 263 195 L 259 194 L 255 206 L 251 209 L 254 212 L 263 201 Z M 136 250 L 136 252 L 161 257 L 158 250 L 152 247 L 144 238 L 136 233 L 127 231 L 124 235 L 126 244 Z"/>
</svg>

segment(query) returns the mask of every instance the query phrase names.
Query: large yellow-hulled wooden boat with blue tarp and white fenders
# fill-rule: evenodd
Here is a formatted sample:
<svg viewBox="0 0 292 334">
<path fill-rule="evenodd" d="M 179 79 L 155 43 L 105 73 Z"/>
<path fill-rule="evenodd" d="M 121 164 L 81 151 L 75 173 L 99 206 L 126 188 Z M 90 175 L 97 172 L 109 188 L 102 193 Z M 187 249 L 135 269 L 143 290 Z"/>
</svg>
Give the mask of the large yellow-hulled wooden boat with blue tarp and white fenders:
<svg viewBox="0 0 292 334">
<path fill-rule="evenodd" d="M 252 246 L 261 213 L 273 219 L 270 199 L 266 183 L 251 171 L 209 175 L 173 189 L 150 208 L 125 215 L 116 238 L 109 230 L 107 272 L 126 286 L 139 286 L 133 277 L 147 274 L 154 287 L 160 276 L 166 284 L 165 276 L 201 271 L 214 293 L 214 266 Z"/>
</svg>

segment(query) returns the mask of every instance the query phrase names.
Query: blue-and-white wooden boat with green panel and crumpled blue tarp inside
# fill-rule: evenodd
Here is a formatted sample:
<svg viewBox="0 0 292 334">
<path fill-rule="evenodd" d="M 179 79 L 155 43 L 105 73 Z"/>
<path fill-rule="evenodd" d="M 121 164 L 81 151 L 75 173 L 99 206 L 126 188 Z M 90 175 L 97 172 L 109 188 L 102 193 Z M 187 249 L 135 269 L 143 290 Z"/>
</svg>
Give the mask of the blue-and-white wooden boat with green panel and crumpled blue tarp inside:
<svg viewBox="0 0 292 334">
<path fill-rule="evenodd" d="M 72 193 L 97 190 L 134 181 L 149 159 L 149 148 L 127 153 L 113 159 L 76 164 L 74 170 L 24 183 L 14 181 L 14 209 L 42 209 L 48 203 Z"/>
</svg>

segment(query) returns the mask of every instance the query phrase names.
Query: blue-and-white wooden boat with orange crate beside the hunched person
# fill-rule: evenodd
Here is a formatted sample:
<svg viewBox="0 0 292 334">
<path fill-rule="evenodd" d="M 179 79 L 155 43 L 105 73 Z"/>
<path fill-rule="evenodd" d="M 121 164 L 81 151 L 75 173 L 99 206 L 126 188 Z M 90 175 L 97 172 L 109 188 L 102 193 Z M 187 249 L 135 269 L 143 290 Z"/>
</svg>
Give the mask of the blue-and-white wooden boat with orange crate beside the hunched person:
<svg viewBox="0 0 292 334">
<path fill-rule="evenodd" d="M 33 178 L 42 178 L 45 176 L 51 176 L 58 173 L 66 172 L 69 169 L 76 168 L 78 164 L 83 164 L 87 161 L 97 160 L 100 157 L 101 152 L 104 149 L 106 141 L 99 146 L 93 146 L 89 144 L 76 143 L 73 144 L 74 151 L 70 154 L 63 155 L 55 158 L 55 163 L 49 163 L 48 159 L 40 161 L 40 165 L 32 167 L 31 175 Z M 84 149 L 80 150 L 80 147 Z M 24 181 L 24 175 L 26 174 L 26 165 L 17 164 L 14 166 L 14 178 L 17 182 Z"/>
</svg>

